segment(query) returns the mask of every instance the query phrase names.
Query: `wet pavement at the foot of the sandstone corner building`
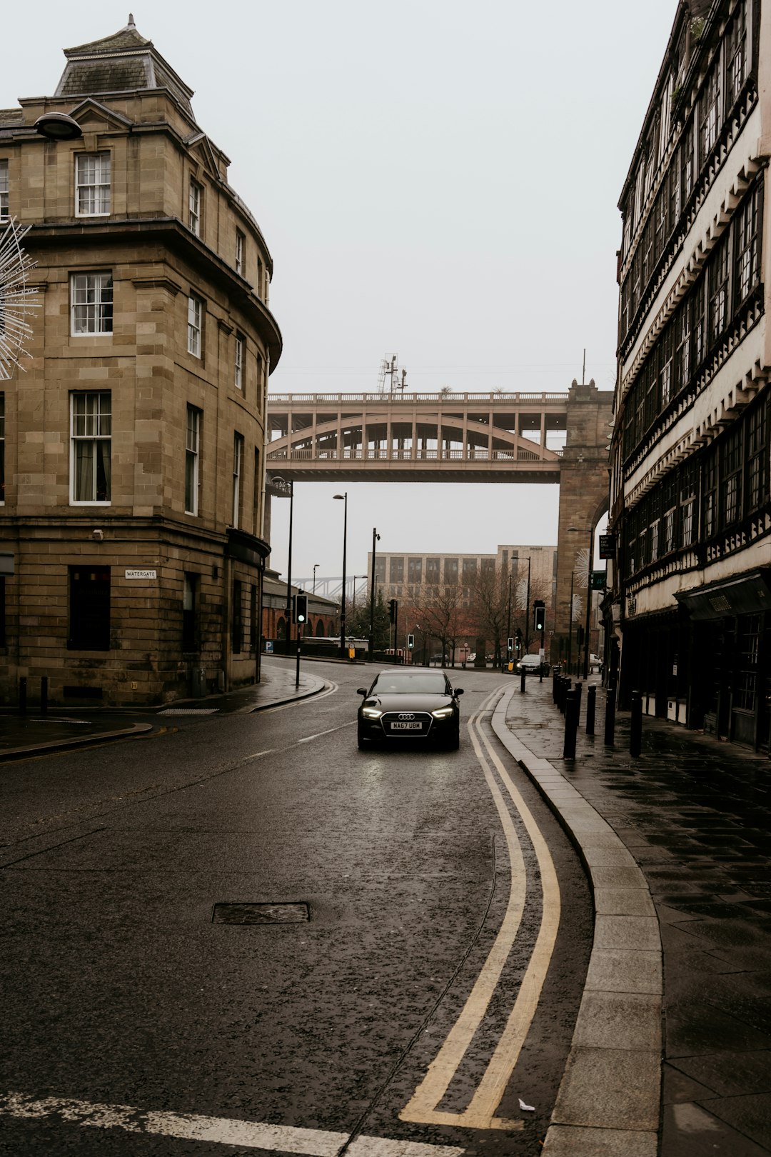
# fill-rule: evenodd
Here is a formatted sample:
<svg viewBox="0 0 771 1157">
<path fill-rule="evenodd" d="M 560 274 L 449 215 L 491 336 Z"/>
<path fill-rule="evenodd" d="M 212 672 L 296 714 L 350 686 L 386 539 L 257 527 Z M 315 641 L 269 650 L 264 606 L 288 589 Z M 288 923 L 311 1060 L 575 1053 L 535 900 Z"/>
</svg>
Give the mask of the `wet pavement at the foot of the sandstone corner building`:
<svg viewBox="0 0 771 1157">
<path fill-rule="evenodd" d="M 227 715 L 266 710 L 268 707 L 318 694 L 326 686 L 324 679 L 312 671 L 301 669 L 299 687 L 295 686 L 295 679 L 294 663 L 264 657 L 260 683 L 223 695 L 124 709 L 68 709 L 57 706 L 50 707 L 45 716 L 40 715 L 37 703 L 30 703 L 23 716 L 12 710 L 0 713 L 0 762 L 131 738 L 170 725 L 175 717 L 190 714 Z"/>
</svg>

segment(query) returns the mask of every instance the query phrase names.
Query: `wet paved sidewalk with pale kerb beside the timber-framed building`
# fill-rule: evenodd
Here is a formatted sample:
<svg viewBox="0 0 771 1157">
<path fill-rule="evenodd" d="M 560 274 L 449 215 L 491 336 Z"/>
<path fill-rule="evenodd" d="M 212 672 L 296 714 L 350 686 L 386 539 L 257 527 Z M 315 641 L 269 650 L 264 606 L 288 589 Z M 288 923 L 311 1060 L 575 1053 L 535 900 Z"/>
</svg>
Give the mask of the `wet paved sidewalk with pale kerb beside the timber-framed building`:
<svg viewBox="0 0 771 1157">
<path fill-rule="evenodd" d="M 596 909 L 546 1157 L 771 1152 L 768 757 L 645 717 L 632 759 L 625 713 L 605 746 L 601 688 L 586 736 L 584 687 L 565 760 L 550 678 L 526 687 L 507 687 L 497 730 L 572 832 Z"/>
</svg>

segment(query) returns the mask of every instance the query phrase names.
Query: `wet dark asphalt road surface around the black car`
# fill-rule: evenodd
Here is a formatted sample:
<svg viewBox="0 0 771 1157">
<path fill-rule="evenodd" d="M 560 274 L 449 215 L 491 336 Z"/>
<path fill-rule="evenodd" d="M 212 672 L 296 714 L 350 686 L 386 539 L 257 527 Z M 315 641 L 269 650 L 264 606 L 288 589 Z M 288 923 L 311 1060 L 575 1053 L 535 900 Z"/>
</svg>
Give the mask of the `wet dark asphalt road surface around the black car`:
<svg viewBox="0 0 771 1157">
<path fill-rule="evenodd" d="M 358 752 L 355 688 L 368 675 L 335 664 L 313 673 L 334 693 L 2 767 L 0 1096 L 536 1155 L 591 945 L 577 857 L 505 757 L 549 846 L 562 907 L 497 1110 L 516 1125 L 401 1120 L 502 926 L 509 853 L 465 727 L 457 753 Z M 464 723 L 502 684 L 495 672 L 453 679 L 466 690 Z M 479 729 L 503 758 L 489 714 Z M 438 1105 L 445 1114 L 462 1113 L 482 1081 L 541 923 L 535 849 L 510 798 L 507 810 L 525 912 Z M 310 921 L 212 921 L 218 902 L 301 901 Z M 0 1117 L 0 1152 L 14 1157 L 284 1151 L 97 1128 L 59 1111 Z"/>
</svg>

